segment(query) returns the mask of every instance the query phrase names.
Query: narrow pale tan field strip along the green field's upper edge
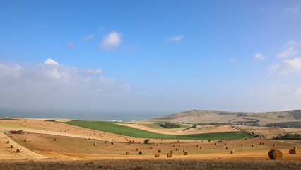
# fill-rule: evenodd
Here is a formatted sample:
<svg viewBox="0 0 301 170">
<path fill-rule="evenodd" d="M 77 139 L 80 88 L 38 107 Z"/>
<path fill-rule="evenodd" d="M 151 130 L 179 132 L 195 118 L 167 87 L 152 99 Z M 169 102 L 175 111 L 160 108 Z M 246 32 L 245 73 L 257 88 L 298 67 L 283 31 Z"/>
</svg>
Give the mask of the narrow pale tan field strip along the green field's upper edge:
<svg viewBox="0 0 301 170">
<path fill-rule="evenodd" d="M 124 125 L 124 126 L 128 126 L 131 128 L 137 128 L 137 129 L 141 129 L 141 130 L 146 130 L 149 132 L 155 132 L 155 133 L 160 133 L 160 134 L 166 134 L 166 135 L 190 135 L 190 134 L 200 134 L 200 133 L 211 133 L 211 132 L 235 132 L 235 131 L 239 131 L 235 128 L 232 128 L 228 125 L 223 126 L 223 127 L 216 127 L 216 128 L 210 128 L 210 129 L 204 129 L 204 130 L 194 130 L 194 131 L 187 131 L 187 132 L 167 132 L 167 131 L 163 131 L 160 129 L 153 129 L 153 128 L 149 128 L 145 125 L 138 125 L 138 124 L 124 124 L 124 123 L 120 123 L 118 125 Z"/>
</svg>

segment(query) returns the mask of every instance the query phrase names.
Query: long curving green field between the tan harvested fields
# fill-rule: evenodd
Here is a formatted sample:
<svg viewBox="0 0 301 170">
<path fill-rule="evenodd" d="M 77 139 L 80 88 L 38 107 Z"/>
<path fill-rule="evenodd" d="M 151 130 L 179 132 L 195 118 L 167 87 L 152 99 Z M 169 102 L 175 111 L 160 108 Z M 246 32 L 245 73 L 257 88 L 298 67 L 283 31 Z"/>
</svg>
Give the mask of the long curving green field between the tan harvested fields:
<svg viewBox="0 0 301 170">
<path fill-rule="evenodd" d="M 111 132 L 118 135 L 126 135 L 130 137 L 143 137 L 153 139 L 178 139 L 178 140 L 238 140 L 244 138 L 251 138 L 247 132 L 214 132 L 192 135 L 165 135 L 154 132 L 148 132 L 146 130 L 140 130 L 123 125 L 118 125 L 119 122 L 106 122 L 106 121 L 88 121 L 88 120 L 76 120 L 64 122 L 69 125 L 76 125 L 83 128 L 89 128 L 92 130 L 100 130 L 103 132 Z"/>
</svg>

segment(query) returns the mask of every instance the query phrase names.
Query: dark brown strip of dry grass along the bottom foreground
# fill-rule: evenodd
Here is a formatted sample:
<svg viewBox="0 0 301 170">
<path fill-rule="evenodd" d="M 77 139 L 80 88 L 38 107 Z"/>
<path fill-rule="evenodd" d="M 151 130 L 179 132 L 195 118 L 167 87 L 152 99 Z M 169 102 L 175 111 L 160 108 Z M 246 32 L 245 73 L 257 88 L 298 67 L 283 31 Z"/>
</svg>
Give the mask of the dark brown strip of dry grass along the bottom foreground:
<svg viewBox="0 0 301 170">
<path fill-rule="evenodd" d="M 18 161 L 0 162 L 0 169 L 300 169 L 300 162 L 218 159 L 102 159 L 77 161 Z"/>
</svg>

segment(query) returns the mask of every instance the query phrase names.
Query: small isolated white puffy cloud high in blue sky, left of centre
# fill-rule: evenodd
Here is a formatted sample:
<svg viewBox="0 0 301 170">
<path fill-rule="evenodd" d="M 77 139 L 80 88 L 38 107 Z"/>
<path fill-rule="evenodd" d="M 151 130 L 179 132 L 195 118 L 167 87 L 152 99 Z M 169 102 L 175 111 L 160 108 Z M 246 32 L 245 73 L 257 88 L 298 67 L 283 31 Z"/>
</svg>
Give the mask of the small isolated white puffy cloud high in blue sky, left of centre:
<svg viewBox="0 0 301 170">
<path fill-rule="evenodd" d="M 122 34 L 112 31 L 107 36 L 102 38 L 102 42 L 100 42 L 99 47 L 102 50 L 108 50 L 112 47 L 118 47 L 118 45 L 122 42 Z"/>
</svg>

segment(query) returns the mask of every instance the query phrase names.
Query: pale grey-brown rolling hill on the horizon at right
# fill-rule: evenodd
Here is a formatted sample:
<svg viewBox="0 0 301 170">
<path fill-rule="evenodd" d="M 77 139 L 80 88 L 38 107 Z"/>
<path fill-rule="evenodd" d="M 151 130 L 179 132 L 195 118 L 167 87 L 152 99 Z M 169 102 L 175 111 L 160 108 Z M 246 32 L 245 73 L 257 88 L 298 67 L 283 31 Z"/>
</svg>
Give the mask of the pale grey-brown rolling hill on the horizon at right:
<svg viewBox="0 0 301 170">
<path fill-rule="evenodd" d="M 215 110 L 191 110 L 146 121 L 172 122 L 172 123 L 281 123 L 301 121 L 301 110 L 275 111 L 275 112 L 228 112 Z"/>
</svg>

